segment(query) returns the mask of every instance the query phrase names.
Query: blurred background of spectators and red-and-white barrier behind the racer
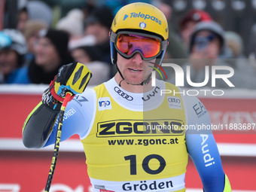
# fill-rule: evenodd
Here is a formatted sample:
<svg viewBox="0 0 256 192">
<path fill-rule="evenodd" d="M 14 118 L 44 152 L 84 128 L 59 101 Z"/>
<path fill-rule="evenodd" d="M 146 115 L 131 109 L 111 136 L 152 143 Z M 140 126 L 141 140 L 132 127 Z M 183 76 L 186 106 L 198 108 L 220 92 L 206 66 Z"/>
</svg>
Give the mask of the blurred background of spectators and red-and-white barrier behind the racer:
<svg viewBox="0 0 256 192">
<path fill-rule="evenodd" d="M 216 81 L 224 96 L 199 97 L 214 125 L 247 127 L 214 133 L 233 191 L 256 191 L 256 0 L 0 0 L 0 191 L 43 191 L 53 146 L 23 147 L 23 122 L 60 66 L 84 63 L 93 72 L 87 89 L 114 76 L 108 32 L 117 11 L 132 2 L 163 11 L 169 23 L 163 62 L 184 72 L 190 66 L 194 83 L 203 82 L 206 66 L 234 69 L 235 87 Z M 174 72 L 166 73 L 174 84 Z M 63 142 L 51 191 L 90 191 L 85 160 L 78 136 Z M 191 160 L 186 187 L 203 191 Z"/>
</svg>

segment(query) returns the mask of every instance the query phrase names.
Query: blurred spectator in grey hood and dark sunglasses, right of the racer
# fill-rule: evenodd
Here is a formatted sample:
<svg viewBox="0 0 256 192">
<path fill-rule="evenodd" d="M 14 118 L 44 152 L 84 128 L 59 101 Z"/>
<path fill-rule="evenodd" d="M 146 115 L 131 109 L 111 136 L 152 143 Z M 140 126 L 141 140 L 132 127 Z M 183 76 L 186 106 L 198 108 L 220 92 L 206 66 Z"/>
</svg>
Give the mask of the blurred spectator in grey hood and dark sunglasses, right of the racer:
<svg viewBox="0 0 256 192">
<path fill-rule="evenodd" d="M 189 61 L 182 67 L 184 72 L 189 66 L 190 80 L 194 83 L 202 83 L 206 78 L 206 70 L 209 70 L 209 76 L 212 75 L 212 66 L 229 66 L 234 70 L 234 75 L 229 79 L 235 87 L 245 88 L 250 84 L 246 71 L 237 67 L 239 63 L 233 59 L 231 50 L 227 47 L 224 38 L 224 30 L 214 21 L 200 22 L 195 26 L 194 32 L 190 37 Z M 206 69 L 209 67 L 209 69 Z M 227 70 L 218 70 L 218 74 L 227 74 Z M 174 78 L 170 82 L 174 82 Z M 191 87 L 187 81 L 184 87 Z M 212 81 L 206 84 L 206 87 L 212 87 Z M 222 79 L 216 79 L 215 87 L 230 88 Z"/>
</svg>

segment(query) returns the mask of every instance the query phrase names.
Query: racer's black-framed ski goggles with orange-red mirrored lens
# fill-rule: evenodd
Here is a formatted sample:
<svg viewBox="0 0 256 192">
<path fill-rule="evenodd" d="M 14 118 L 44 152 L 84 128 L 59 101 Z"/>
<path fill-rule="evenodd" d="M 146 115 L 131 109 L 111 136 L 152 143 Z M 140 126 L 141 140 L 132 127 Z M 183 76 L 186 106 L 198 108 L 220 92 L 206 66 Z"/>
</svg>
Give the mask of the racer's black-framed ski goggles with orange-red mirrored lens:
<svg viewBox="0 0 256 192">
<path fill-rule="evenodd" d="M 135 53 L 140 53 L 144 60 L 151 60 L 166 50 L 168 40 L 163 41 L 156 35 L 139 32 L 111 32 L 110 40 L 114 43 L 117 52 L 126 59 Z"/>
</svg>

